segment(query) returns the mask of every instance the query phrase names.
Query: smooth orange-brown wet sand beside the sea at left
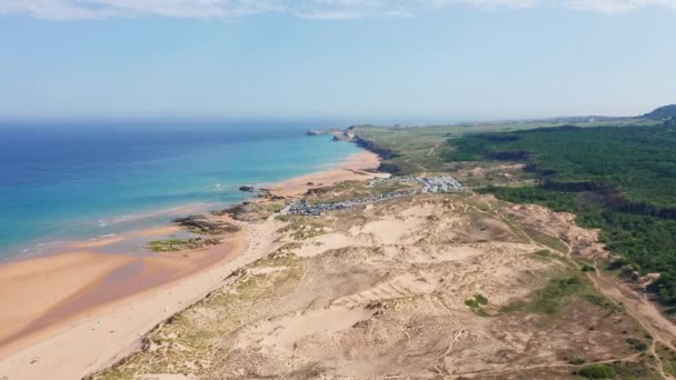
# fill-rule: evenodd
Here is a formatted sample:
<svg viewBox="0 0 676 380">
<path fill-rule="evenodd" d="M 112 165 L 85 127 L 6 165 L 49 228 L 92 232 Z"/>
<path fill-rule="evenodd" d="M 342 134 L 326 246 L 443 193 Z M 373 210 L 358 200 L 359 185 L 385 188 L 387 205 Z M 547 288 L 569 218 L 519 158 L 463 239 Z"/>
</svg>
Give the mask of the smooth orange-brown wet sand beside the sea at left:
<svg viewBox="0 0 676 380">
<path fill-rule="evenodd" d="M 0 267 L 0 356 L 52 324 L 209 268 L 237 253 L 231 240 L 189 253 L 82 251 Z"/>
</svg>

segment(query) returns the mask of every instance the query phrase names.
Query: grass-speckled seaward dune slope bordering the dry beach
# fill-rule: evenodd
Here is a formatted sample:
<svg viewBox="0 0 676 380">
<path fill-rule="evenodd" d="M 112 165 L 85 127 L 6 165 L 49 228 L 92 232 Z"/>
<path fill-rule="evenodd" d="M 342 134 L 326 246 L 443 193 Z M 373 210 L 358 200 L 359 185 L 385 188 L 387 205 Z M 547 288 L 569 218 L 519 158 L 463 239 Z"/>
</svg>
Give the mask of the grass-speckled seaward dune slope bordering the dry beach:
<svg viewBox="0 0 676 380">
<path fill-rule="evenodd" d="M 218 340 L 257 318 L 256 306 L 269 302 L 295 287 L 302 276 L 300 258 L 292 253 L 268 257 L 248 268 L 287 267 L 271 273 L 239 271 L 228 288 L 216 291 L 153 329 L 143 349 L 111 368 L 92 374 L 91 380 L 127 380 L 136 374 L 188 373 L 209 378 Z M 88 379 L 88 380 L 89 380 Z"/>
</svg>

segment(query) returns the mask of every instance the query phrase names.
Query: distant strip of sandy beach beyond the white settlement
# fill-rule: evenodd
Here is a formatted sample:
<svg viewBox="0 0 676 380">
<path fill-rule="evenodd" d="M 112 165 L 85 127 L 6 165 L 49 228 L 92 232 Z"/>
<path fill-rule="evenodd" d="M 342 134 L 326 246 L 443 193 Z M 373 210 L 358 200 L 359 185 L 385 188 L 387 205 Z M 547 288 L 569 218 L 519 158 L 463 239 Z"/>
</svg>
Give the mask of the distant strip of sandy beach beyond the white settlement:
<svg viewBox="0 0 676 380">
<path fill-rule="evenodd" d="M 380 158 L 378 154 L 365 151 L 350 156 L 347 161 L 334 169 L 274 183 L 269 186 L 269 190 L 275 196 L 298 197 L 311 188 L 321 186 L 330 186 L 342 181 L 366 180 L 376 177 L 389 177 L 389 174 L 376 171 L 379 164 Z"/>
</svg>

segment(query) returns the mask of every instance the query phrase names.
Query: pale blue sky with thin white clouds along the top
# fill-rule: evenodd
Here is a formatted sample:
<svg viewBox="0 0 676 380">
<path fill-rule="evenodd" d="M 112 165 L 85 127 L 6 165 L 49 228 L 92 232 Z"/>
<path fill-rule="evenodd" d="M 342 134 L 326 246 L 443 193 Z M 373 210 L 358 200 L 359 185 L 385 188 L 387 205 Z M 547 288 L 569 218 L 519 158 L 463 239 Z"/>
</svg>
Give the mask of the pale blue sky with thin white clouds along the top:
<svg viewBox="0 0 676 380">
<path fill-rule="evenodd" d="M 0 0 L 0 120 L 633 116 L 675 41 L 676 0 Z"/>
</svg>

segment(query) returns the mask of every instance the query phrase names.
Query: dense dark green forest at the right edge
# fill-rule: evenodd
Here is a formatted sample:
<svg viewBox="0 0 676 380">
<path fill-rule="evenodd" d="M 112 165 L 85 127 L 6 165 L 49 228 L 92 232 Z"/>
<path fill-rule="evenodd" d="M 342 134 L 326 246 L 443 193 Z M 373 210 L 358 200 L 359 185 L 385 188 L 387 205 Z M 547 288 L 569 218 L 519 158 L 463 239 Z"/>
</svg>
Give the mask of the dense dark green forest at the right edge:
<svg viewBox="0 0 676 380">
<path fill-rule="evenodd" d="M 602 229 L 616 267 L 663 276 L 650 290 L 676 311 L 676 127 L 533 129 L 449 139 L 446 161 L 520 161 L 536 187 L 483 191 L 574 212 Z"/>
</svg>

